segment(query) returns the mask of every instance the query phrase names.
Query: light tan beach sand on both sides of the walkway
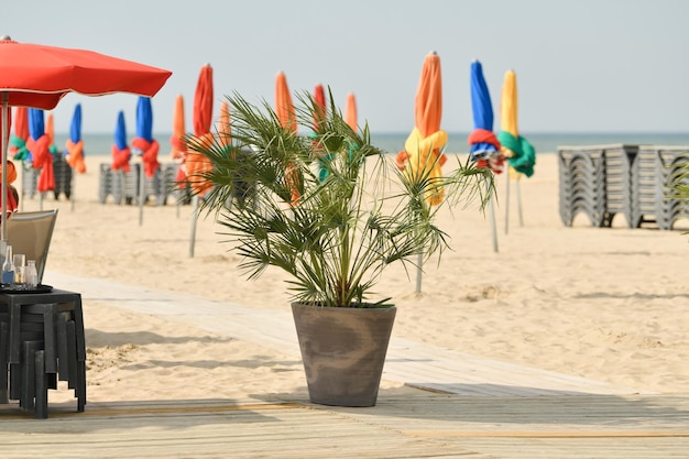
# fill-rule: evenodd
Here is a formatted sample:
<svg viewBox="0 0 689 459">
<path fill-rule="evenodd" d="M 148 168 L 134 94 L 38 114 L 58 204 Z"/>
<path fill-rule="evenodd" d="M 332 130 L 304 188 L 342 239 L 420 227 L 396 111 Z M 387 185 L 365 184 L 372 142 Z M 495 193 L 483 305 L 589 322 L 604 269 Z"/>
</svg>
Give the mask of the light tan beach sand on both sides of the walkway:
<svg viewBox="0 0 689 459">
<path fill-rule="evenodd" d="M 44 208 L 59 208 L 46 278 L 58 272 L 288 310 L 286 277 L 269 270 L 247 281 L 211 217 L 198 220 L 190 258 L 190 206 L 151 201 L 140 226 L 138 206 L 100 204 L 99 164 L 107 161 L 87 159 L 74 208 L 64 197 L 44 199 Z M 555 154 L 542 154 L 535 175 L 521 181 L 523 226 L 515 182 L 507 203 L 505 176 L 497 176 L 497 253 L 490 212 L 475 205 L 440 212 L 452 250 L 425 266 L 422 293 L 415 293 L 416 272 L 401 266 L 378 285 L 398 308 L 393 335 L 639 391 L 686 393 L 689 236 L 628 229 L 623 216 L 612 228 L 593 228 L 583 215 L 565 227 L 557 167 Z M 36 210 L 37 197 L 21 206 Z M 89 401 L 306 393 L 293 357 L 111 302 L 85 298 L 84 308 Z M 389 381 L 382 387 L 415 391 Z"/>
</svg>

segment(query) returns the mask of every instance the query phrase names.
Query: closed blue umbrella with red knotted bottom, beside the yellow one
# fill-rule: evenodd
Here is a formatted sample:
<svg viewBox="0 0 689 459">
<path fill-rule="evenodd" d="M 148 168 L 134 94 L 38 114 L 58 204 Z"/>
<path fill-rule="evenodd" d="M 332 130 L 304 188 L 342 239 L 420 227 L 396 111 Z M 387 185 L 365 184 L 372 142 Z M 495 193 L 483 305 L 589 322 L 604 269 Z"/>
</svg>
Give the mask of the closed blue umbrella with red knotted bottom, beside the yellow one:
<svg viewBox="0 0 689 459">
<path fill-rule="evenodd" d="M 500 142 L 493 133 L 493 105 L 483 77 L 483 66 L 479 61 L 471 63 L 470 73 L 471 111 L 473 113 L 473 131 L 469 134 L 471 157 L 478 167 L 490 167 L 500 174 L 504 159 L 500 152 Z M 493 251 L 497 252 L 497 231 L 495 229 L 495 210 L 493 199 L 490 200 L 491 227 L 493 229 Z"/>
</svg>

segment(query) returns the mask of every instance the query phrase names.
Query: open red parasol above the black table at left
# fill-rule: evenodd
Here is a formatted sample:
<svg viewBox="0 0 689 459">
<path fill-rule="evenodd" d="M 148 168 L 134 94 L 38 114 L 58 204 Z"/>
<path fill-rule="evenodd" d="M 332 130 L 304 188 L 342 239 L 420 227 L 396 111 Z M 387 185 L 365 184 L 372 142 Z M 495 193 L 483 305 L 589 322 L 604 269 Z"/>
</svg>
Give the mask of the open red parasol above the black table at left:
<svg viewBox="0 0 689 459">
<path fill-rule="evenodd" d="M 18 43 L 0 39 L 0 102 L 3 133 L 2 189 L 7 189 L 7 122 L 10 107 L 55 108 L 68 92 L 154 96 L 171 72 L 86 50 Z M 4 195 L 4 193 L 3 193 Z M 2 215 L 6 201 L 2 200 Z M 2 240 L 6 238 L 2 226 Z"/>
</svg>

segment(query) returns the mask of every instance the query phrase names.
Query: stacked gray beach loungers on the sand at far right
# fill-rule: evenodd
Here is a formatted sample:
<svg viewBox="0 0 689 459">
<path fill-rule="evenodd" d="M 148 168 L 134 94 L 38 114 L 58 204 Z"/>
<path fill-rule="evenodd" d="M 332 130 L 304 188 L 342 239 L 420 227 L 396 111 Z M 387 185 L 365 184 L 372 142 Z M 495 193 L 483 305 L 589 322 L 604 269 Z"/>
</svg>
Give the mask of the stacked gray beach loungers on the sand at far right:
<svg viewBox="0 0 689 459">
<path fill-rule="evenodd" d="M 689 206 L 669 186 L 683 173 L 689 146 L 593 145 L 558 149 L 560 218 L 571 227 L 583 212 L 594 227 L 610 227 L 622 214 L 630 228 L 655 222 L 672 229 Z"/>
</svg>

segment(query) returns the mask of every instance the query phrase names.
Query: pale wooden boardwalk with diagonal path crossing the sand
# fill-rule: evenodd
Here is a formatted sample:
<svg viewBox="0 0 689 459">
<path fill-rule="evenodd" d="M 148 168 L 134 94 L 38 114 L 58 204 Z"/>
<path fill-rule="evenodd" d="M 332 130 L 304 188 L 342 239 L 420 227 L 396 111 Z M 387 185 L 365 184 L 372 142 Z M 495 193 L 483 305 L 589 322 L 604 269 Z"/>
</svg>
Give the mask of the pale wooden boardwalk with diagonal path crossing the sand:
<svg viewBox="0 0 689 459">
<path fill-rule="evenodd" d="M 292 317 L 51 273 L 112 302 L 298 356 Z M 4 458 L 689 458 L 689 395 L 639 394 L 394 338 L 384 378 L 427 391 L 371 408 L 308 400 L 51 404 L 36 420 L 0 405 Z M 284 394 L 282 395 L 284 397 Z"/>
</svg>

